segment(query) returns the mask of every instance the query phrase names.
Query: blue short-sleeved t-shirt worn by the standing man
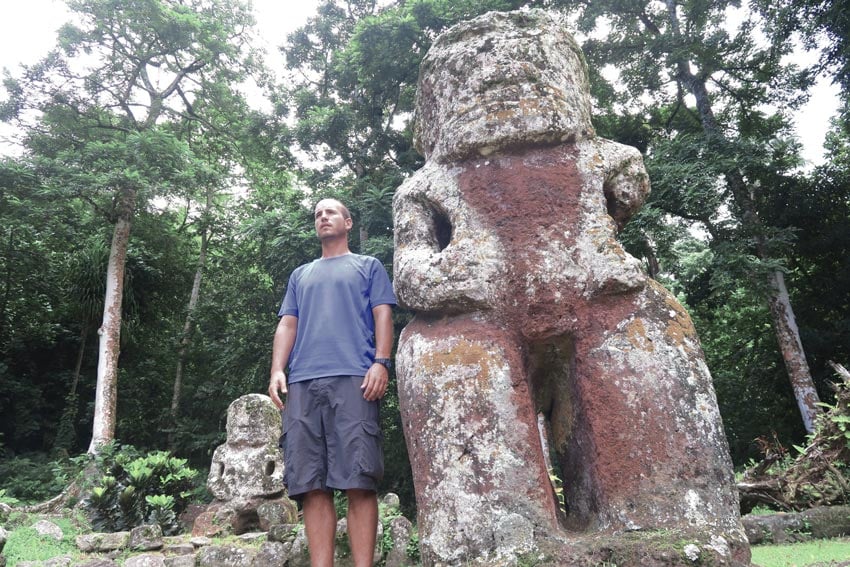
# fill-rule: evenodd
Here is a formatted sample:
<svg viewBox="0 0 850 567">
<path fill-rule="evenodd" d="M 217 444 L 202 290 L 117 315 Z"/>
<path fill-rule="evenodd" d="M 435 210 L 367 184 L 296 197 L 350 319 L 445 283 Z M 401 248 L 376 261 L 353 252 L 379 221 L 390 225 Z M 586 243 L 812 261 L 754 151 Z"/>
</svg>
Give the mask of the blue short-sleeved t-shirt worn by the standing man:
<svg viewBox="0 0 850 567">
<path fill-rule="evenodd" d="M 375 358 L 372 308 L 395 305 L 383 264 L 371 256 L 319 258 L 289 277 L 279 316 L 298 317 L 289 383 L 364 376 Z"/>
</svg>

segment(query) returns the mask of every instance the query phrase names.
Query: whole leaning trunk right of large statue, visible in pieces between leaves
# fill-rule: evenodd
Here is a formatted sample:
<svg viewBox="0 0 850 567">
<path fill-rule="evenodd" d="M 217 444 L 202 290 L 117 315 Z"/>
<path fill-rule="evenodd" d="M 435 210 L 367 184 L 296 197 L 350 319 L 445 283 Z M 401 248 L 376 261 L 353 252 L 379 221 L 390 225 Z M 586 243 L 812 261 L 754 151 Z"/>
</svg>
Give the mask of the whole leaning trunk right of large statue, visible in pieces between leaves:
<svg viewBox="0 0 850 567">
<path fill-rule="evenodd" d="M 673 35 L 679 38 L 679 20 L 676 13 L 676 2 L 666 0 L 670 27 Z M 706 138 L 717 141 L 725 141 L 726 137 L 717 123 L 714 110 L 711 106 L 711 98 L 705 83 L 705 78 L 694 75 L 691 72 L 690 63 L 682 56 L 676 62 L 677 79 L 696 99 L 697 112 L 702 123 Z M 732 196 L 742 211 L 742 224 L 750 227 L 756 240 L 756 254 L 759 259 L 766 259 L 764 237 L 762 233 L 761 219 L 758 216 L 755 202 L 751 194 L 752 187 L 748 187 L 743 175 L 737 169 L 726 173 L 726 182 L 732 192 Z M 788 371 L 788 379 L 794 389 L 797 405 L 803 418 L 806 431 L 811 433 L 814 429 L 814 416 L 817 414 L 818 395 L 815 389 L 809 366 L 806 363 L 806 354 L 800 333 L 785 288 L 785 279 L 782 273 L 774 271 L 769 276 L 770 291 L 768 292 L 768 306 L 773 319 L 773 328 L 785 360 Z"/>
</svg>

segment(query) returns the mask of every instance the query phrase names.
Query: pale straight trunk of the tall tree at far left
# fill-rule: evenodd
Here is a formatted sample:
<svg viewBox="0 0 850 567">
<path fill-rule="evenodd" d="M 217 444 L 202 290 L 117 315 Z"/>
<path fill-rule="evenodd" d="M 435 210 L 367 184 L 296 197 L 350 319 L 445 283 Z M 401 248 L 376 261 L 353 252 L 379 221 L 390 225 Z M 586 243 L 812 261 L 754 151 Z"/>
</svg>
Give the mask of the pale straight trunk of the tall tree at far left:
<svg viewBox="0 0 850 567">
<path fill-rule="evenodd" d="M 121 347 L 121 304 L 124 297 L 124 267 L 130 241 L 130 225 L 136 193 L 122 189 L 119 195 L 109 264 L 106 268 L 106 295 L 103 301 L 103 322 L 97 353 L 97 387 L 94 402 L 94 423 L 88 452 L 97 454 L 101 445 L 115 438 L 118 405 L 118 355 Z"/>
</svg>

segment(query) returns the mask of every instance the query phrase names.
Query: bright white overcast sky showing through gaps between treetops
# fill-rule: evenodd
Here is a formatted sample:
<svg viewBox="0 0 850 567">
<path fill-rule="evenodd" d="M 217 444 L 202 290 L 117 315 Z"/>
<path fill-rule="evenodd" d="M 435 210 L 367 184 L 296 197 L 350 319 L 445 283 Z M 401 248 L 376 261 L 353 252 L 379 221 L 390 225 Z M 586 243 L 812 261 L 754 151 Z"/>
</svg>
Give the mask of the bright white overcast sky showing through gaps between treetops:
<svg viewBox="0 0 850 567">
<path fill-rule="evenodd" d="M 282 61 L 277 46 L 286 35 L 310 17 L 317 0 L 254 0 L 258 47 L 268 52 L 268 63 L 280 70 Z M 20 63 L 35 63 L 56 44 L 56 30 L 67 21 L 68 12 L 60 0 L 0 0 L 0 69 L 13 74 Z M 795 116 L 797 134 L 804 144 L 803 157 L 818 164 L 823 160 L 823 140 L 829 119 L 838 107 L 838 88 L 821 80 L 812 91 L 811 100 Z M 0 153 L 10 147 L 2 139 L 8 137 L 8 125 L 0 124 Z"/>
</svg>

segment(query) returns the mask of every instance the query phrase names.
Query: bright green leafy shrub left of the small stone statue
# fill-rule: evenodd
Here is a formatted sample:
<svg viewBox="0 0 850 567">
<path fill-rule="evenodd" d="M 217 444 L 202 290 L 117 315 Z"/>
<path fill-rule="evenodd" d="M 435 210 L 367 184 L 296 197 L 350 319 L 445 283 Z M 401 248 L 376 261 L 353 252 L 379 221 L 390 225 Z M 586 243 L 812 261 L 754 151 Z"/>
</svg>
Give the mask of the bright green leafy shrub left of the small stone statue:
<svg viewBox="0 0 850 567">
<path fill-rule="evenodd" d="M 104 446 L 95 460 L 103 476 L 84 501 L 92 526 L 114 532 L 156 523 L 165 534 L 177 533 L 198 475 L 186 463 L 165 451 L 140 455 L 133 447 Z"/>
</svg>

